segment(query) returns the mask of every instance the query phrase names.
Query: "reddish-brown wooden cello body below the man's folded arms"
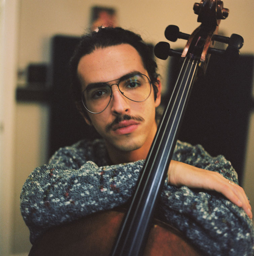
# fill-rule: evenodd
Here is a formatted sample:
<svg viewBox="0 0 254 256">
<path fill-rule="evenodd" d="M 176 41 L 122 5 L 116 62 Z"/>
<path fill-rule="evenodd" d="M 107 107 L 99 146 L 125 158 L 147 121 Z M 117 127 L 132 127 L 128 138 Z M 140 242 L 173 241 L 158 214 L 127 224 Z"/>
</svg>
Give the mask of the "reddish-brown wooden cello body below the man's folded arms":
<svg viewBox="0 0 254 256">
<path fill-rule="evenodd" d="M 123 210 L 109 210 L 53 227 L 33 245 L 29 256 L 109 256 L 123 217 Z M 143 255 L 202 254 L 177 229 L 155 219 Z"/>
</svg>

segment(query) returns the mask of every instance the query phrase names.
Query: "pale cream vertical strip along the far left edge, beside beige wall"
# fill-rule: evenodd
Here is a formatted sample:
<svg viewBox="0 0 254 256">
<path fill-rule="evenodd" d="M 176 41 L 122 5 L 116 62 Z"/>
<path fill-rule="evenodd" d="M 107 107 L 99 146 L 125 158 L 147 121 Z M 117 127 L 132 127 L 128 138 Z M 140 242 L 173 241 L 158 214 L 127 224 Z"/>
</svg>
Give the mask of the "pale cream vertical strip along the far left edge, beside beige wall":
<svg viewBox="0 0 254 256">
<path fill-rule="evenodd" d="M 0 1 L 0 255 L 11 252 L 14 202 L 14 118 L 17 1 Z"/>
</svg>

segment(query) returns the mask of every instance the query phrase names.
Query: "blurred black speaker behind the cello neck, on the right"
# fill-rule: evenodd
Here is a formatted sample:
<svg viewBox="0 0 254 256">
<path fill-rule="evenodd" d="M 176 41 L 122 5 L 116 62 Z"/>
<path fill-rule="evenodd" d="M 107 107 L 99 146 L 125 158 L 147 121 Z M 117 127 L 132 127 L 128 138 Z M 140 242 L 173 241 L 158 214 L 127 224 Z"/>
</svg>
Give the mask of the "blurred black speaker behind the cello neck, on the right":
<svg viewBox="0 0 254 256">
<path fill-rule="evenodd" d="M 170 95 L 177 79 L 179 58 L 171 57 Z M 229 160 L 242 183 L 250 112 L 253 110 L 252 55 L 235 62 L 212 55 L 204 77 L 193 85 L 179 140 L 201 144 L 212 156 Z M 164 104 L 166 104 L 164 102 Z"/>
</svg>

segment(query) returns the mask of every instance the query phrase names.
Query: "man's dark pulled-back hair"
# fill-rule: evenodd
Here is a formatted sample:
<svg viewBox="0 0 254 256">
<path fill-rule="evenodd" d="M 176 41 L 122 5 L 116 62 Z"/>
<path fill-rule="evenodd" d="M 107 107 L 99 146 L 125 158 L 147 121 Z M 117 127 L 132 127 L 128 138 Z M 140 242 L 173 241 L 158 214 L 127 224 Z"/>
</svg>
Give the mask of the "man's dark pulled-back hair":
<svg viewBox="0 0 254 256">
<path fill-rule="evenodd" d="M 81 82 L 77 75 L 77 67 L 80 59 L 86 55 L 95 51 L 97 48 L 105 48 L 109 46 L 115 46 L 120 44 L 129 44 L 133 46 L 139 55 L 141 56 L 143 65 L 148 72 L 151 84 L 154 90 L 154 99 L 157 95 L 158 74 L 156 73 L 157 64 L 154 60 L 152 47 L 147 45 L 140 35 L 135 34 L 132 31 L 122 28 L 104 28 L 101 27 L 98 31 L 93 31 L 85 34 L 81 37 L 79 45 L 77 46 L 71 60 L 70 60 L 70 79 L 71 79 L 71 91 L 74 97 L 74 101 L 80 102 L 81 98 Z M 83 109 L 83 106 L 80 106 Z M 79 110 L 80 110 L 79 107 Z"/>
</svg>

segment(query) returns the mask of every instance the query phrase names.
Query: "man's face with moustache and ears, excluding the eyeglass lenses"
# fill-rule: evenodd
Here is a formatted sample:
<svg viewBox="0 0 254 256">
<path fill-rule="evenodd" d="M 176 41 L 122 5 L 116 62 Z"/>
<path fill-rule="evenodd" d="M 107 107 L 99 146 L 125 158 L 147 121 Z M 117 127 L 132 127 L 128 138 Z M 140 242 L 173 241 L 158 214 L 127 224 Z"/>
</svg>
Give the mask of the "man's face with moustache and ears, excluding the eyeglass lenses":
<svg viewBox="0 0 254 256">
<path fill-rule="evenodd" d="M 78 64 L 82 90 L 88 84 L 116 80 L 131 72 L 149 77 L 140 55 L 129 44 L 98 48 L 83 56 Z M 150 148 L 157 129 L 155 107 L 160 104 L 160 84 L 158 91 L 155 101 L 152 89 L 144 102 L 134 102 L 124 97 L 117 85 L 113 85 L 113 97 L 108 107 L 100 114 L 87 112 L 90 120 L 85 118 L 86 122 L 94 125 L 108 149 L 133 151 Z"/>
</svg>

